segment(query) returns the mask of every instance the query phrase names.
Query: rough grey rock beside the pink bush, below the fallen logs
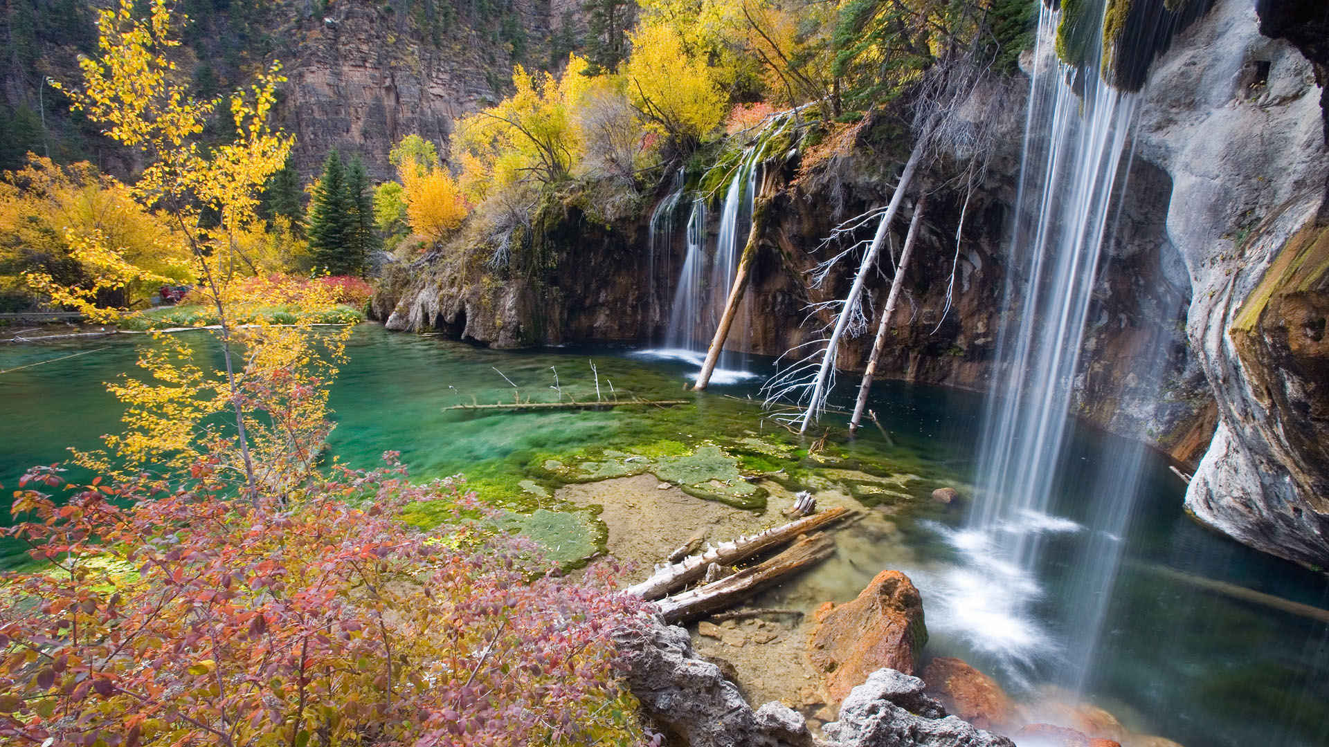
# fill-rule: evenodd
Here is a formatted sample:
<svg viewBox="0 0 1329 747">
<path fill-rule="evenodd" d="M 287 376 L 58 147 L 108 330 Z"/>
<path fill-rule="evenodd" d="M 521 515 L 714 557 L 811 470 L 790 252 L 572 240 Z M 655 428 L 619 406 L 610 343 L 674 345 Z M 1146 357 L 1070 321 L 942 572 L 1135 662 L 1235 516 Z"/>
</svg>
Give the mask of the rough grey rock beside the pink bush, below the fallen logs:
<svg viewBox="0 0 1329 747">
<path fill-rule="evenodd" d="M 780 703 L 754 711 L 720 667 L 696 657 L 687 630 L 651 617 L 617 643 L 629 690 L 670 744 L 812 747 L 800 714 Z"/>
</svg>

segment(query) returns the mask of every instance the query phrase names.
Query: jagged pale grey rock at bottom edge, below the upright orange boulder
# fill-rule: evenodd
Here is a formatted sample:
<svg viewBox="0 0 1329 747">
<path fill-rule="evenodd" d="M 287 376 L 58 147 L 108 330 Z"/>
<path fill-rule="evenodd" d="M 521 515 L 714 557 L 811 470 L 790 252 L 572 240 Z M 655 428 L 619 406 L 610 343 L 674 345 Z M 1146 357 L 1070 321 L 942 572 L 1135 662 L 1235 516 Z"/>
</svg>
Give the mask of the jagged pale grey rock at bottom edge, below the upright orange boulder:
<svg viewBox="0 0 1329 747">
<path fill-rule="evenodd" d="M 855 687 L 839 720 L 821 731 L 836 747 L 1015 747 L 1015 743 L 946 715 L 917 677 L 881 669 Z"/>
</svg>

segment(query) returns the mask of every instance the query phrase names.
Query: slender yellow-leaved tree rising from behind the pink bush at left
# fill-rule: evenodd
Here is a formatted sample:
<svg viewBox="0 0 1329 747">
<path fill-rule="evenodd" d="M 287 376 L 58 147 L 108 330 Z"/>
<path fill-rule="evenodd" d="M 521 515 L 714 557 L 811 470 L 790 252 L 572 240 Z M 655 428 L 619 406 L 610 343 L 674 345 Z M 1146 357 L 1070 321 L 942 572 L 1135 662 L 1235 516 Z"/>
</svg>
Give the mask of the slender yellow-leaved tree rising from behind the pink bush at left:
<svg viewBox="0 0 1329 747">
<path fill-rule="evenodd" d="M 69 96 L 110 138 L 144 154 L 146 166 L 132 194 L 163 210 L 189 249 L 199 280 L 194 292 L 215 314 L 223 367 L 201 366 L 186 342 L 159 335 L 141 358 L 146 377 L 126 376 L 112 387 L 126 403 L 124 432 L 108 437 L 106 455 L 82 455 L 82 461 L 104 471 L 113 464 L 152 469 L 169 480 L 171 469 L 207 457 L 258 501 L 262 489 L 280 494 L 312 467 L 319 436 L 331 428 L 326 381 L 340 360 L 344 334 L 311 328 L 331 306 L 331 294 L 280 278 L 255 279 L 259 267 L 245 254 L 242 238 L 262 225 L 259 190 L 291 146 L 267 121 L 278 66 L 225 98 L 235 136 L 205 149 L 198 138 L 223 100 L 190 96 L 173 61 L 179 19 L 167 3 L 152 0 L 145 17 L 138 5 L 121 0 L 98 13 L 98 53 L 80 61 L 84 85 Z M 102 238 L 89 245 L 124 261 Z M 263 315 L 274 307 L 290 310 L 288 324 Z"/>
</svg>

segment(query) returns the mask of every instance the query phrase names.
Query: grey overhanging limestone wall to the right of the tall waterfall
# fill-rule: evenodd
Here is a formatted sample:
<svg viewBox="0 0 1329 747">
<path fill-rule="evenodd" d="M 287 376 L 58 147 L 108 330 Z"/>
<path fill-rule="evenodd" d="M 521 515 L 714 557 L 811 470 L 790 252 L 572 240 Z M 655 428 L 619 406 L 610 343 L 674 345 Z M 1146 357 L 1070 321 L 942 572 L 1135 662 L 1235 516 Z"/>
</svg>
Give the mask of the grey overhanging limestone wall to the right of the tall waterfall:
<svg viewBox="0 0 1329 747">
<path fill-rule="evenodd" d="M 1159 60 L 1139 153 L 1171 177 L 1167 238 L 1219 425 L 1187 493 L 1201 521 L 1329 565 L 1325 149 L 1312 62 L 1219 0 Z"/>
</svg>

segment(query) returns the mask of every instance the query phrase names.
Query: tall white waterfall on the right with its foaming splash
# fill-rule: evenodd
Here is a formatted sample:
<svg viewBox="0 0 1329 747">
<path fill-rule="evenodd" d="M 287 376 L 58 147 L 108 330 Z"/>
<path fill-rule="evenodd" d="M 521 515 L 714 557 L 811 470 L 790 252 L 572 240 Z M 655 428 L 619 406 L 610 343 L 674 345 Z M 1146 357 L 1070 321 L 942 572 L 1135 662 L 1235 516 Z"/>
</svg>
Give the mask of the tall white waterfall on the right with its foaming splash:
<svg viewBox="0 0 1329 747">
<path fill-rule="evenodd" d="M 1100 48 L 1086 54 L 1092 61 L 1086 69 L 1059 64 L 1051 49 L 1058 20 L 1042 7 L 1005 299 L 1017 315 L 998 332 L 979 494 L 966 528 L 952 536 L 964 566 L 941 582 L 938 595 L 948 633 L 1010 678 L 1037 673 L 1080 687 L 1115 578 L 1139 453 L 1119 455 L 1083 490 L 1086 498 L 1102 496 L 1086 524 L 1051 516 L 1050 506 L 1135 96 L 1103 82 L 1095 66 Z M 1057 533 L 1083 541 L 1069 572 L 1075 578 L 1066 582 L 1078 609 L 1051 621 L 1041 614 L 1049 594 L 1035 568 Z"/>
</svg>

